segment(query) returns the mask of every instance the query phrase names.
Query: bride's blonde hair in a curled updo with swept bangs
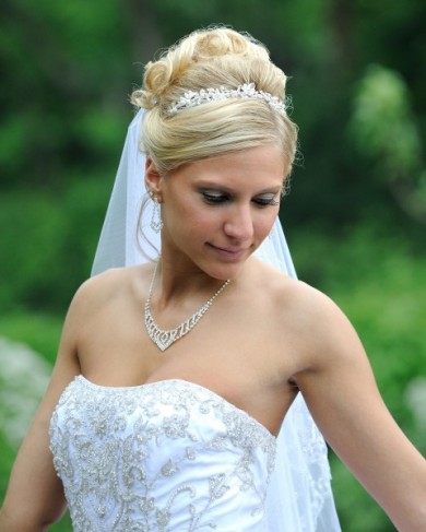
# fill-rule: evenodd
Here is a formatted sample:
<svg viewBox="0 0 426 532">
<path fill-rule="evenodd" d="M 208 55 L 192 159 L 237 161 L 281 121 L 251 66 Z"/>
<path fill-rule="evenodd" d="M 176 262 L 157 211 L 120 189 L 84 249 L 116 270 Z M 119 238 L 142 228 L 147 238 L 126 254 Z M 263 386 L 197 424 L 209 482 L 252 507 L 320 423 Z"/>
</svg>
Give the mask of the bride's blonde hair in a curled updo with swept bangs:
<svg viewBox="0 0 426 532">
<path fill-rule="evenodd" d="M 200 158 L 275 144 L 288 175 L 297 129 L 284 111 L 256 98 L 209 102 L 170 115 L 188 91 L 253 83 L 258 91 L 285 99 L 286 76 L 267 48 L 248 34 L 227 27 L 191 33 L 145 67 L 143 85 L 131 102 L 146 109 L 142 150 L 162 174 Z"/>
</svg>

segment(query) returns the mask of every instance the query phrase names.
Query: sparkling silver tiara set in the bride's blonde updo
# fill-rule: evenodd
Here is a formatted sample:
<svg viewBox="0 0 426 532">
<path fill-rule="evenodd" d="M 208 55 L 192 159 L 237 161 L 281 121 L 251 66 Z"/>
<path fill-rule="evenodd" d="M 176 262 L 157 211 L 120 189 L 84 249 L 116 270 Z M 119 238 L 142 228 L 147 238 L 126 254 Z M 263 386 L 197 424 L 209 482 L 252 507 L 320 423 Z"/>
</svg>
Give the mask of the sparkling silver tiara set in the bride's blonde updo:
<svg viewBox="0 0 426 532">
<path fill-rule="evenodd" d="M 190 109 L 198 107 L 209 102 L 221 102 L 228 98 L 257 98 L 263 99 L 270 107 L 286 114 L 286 104 L 276 96 L 263 91 L 257 91 L 255 83 L 244 83 L 237 88 L 226 88 L 221 86 L 218 88 L 201 88 L 201 91 L 188 91 L 180 96 L 180 98 L 167 108 L 169 115 L 176 115 L 182 109 Z"/>
</svg>

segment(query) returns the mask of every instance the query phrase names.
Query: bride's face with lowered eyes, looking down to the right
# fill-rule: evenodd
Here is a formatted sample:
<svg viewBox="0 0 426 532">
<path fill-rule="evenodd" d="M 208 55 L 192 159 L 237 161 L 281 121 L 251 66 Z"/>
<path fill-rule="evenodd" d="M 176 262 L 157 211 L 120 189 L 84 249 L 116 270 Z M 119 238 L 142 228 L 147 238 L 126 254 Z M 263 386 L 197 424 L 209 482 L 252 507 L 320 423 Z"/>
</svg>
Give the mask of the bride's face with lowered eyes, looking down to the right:
<svg viewBox="0 0 426 532">
<path fill-rule="evenodd" d="M 196 267 L 215 279 L 234 277 L 272 228 L 283 176 L 284 157 L 275 145 L 197 161 L 157 176 L 164 256 L 173 253 L 177 271 Z"/>
</svg>

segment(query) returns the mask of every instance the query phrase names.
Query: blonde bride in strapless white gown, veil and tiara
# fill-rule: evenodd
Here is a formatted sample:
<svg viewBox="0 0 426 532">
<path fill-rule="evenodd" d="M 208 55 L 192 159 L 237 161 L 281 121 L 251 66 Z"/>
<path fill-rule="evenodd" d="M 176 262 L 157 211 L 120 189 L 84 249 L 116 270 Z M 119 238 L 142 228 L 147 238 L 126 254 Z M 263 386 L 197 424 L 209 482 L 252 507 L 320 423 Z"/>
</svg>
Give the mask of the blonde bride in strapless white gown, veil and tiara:
<svg viewBox="0 0 426 532">
<path fill-rule="evenodd" d="M 295 279 L 285 81 L 224 27 L 146 66 L 0 531 L 46 530 L 67 504 L 81 532 L 339 531 L 321 434 L 398 530 L 426 530 L 425 460 L 347 319 Z"/>
</svg>

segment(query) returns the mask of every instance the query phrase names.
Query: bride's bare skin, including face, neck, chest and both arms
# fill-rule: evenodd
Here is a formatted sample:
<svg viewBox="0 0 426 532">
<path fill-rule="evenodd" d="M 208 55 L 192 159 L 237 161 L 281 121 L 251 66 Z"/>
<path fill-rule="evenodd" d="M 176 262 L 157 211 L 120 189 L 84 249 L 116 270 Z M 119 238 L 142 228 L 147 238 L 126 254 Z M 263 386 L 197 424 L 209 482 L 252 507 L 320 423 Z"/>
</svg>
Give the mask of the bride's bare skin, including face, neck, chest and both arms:
<svg viewBox="0 0 426 532">
<path fill-rule="evenodd" d="M 284 162 L 274 145 L 198 161 L 146 187 L 162 203 L 163 256 L 151 302 L 173 328 L 229 285 L 199 324 L 161 354 L 143 327 L 153 265 L 110 270 L 69 309 L 52 378 L 16 459 L 1 532 L 38 532 L 66 508 L 48 424 L 75 375 L 103 386 L 180 378 L 277 434 L 298 390 L 331 447 L 398 530 L 426 530 L 426 461 L 392 419 L 351 323 L 323 294 L 252 257 L 277 215 Z M 256 305 L 253 305 L 256 302 Z"/>
</svg>

